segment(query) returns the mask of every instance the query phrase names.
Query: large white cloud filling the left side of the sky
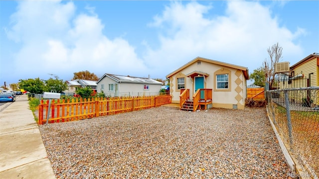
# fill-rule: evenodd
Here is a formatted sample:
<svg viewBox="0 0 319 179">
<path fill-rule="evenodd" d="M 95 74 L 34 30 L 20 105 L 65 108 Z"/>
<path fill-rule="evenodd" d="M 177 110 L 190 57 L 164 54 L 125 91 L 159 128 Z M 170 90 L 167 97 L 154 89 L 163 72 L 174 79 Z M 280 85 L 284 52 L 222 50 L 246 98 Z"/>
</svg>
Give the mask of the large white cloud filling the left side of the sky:
<svg viewBox="0 0 319 179">
<path fill-rule="evenodd" d="M 7 32 L 9 38 L 23 44 L 15 56 L 16 69 L 28 76 L 57 74 L 64 80 L 83 70 L 98 76 L 146 71 L 135 49 L 122 38 L 109 40 L 94 8 L 89 10 L 93 15 L 75 15 L 73 2 L 19 2 Z"/>
</svg>

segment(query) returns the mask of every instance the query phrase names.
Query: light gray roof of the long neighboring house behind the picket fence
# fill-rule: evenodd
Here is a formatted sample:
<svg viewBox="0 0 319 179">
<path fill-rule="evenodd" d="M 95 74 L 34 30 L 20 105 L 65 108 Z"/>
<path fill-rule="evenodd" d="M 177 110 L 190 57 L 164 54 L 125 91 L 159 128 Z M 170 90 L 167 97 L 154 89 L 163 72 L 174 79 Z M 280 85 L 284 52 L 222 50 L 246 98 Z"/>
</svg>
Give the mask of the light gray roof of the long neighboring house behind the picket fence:
<svg viewBox="0 0 319 179">
<path fill-rule="evenodd" d="M 122 76 L 122 75 L 112 75 L 104 74 L 102 78 L 97 82 L 99 83 L 104 77 L 109 77 L 110 79 L 118 83 L 139 83 L 139 84 L 153 84 L 153 85 L 163 85 L 163 83 L 150 79 L 150 78 L 141 78 L 141 77 L 131 77 L 131 76 Z"/>
</svg>

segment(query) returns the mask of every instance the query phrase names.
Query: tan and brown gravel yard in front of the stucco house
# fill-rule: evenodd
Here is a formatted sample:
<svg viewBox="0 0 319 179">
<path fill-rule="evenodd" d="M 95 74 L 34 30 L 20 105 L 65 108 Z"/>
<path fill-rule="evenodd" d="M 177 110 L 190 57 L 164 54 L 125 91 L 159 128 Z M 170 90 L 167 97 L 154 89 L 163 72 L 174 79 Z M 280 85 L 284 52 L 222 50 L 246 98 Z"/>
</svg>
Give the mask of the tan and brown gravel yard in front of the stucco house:
<svg viewBox="0 0 319 179">
<path fill-rule="evenodd" d="M 156 107 L 39 127 L 57 178 L 287 179 L 265 108 Z"/>
</svg>

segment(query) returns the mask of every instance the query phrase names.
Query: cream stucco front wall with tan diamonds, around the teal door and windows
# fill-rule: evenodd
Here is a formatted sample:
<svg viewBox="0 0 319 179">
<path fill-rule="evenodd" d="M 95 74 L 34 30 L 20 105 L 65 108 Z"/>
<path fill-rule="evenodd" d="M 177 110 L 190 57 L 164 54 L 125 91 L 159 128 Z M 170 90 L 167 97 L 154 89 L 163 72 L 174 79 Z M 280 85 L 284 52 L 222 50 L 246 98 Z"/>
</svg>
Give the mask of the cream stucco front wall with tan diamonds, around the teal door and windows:
<svg viewBox="0 0 319 179">
<path fill-rule="evenodd" d="M 198 65 L 196 62 L 188 65 L 186 68 L 181 69 L 179 72 L 169 77 L 170 80 L 170 94 L 172 95 L 172 103 L 179 103 L 180 90 L 177 89 L 177 78 L 185 76 L 193 71 L 200 71 L 209 74 L 205 77 L 204 88 L 213 89 L 212 91 L 212 104 L 213 107 L 233 108 L 236 104 L 238 109 L 244 109 L 246 98 L 246 79 L 241 70 L 224 67 L 222 65 L 212 64 L 201 61 Z M 216 90 L 216 74 L 230 73 L 229 75 L 229 90 Z M 194 94 L 193 79 L 185 77 L 185 89 L 189 89 L 190 98 Z"/>
</svg>

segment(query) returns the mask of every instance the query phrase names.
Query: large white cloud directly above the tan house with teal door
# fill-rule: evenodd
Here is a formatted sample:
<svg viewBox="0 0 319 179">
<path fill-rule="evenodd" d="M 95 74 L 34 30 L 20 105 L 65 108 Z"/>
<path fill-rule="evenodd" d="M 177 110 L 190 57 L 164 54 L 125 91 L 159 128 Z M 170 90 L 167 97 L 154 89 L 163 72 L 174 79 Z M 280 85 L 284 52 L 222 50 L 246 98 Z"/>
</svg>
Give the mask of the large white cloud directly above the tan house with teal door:
<svg viewBox="0 0 319 179">
<path fill-rule="evenodd" d="M 303 49 L 293 41 L 304 33 L 303 29 L 293 33 L 280 26 L 271 10 L 259 2 L 227 1 L 227 4 L 225 15 L 212 19 L 204 17 L 205 13 L 214 13 L 212 6 L 197 2 L 186 5 L 173 2 L 166 7 L 151 23 L 163 31 L 159 34 L 160 48 L 148 49 L 144 57 L 155 59 L 149 60 L 148 65 L 160 66 L 158 69 L 168 67 L 170 73 L 200 56 L 245 66 L 252 72 L 268 58 L 267 48 L 277 42 L 283 47 L 284 57 L 302 53 Z M 158 64 L 160 59 L 167 63 Z"/>
</svg>

